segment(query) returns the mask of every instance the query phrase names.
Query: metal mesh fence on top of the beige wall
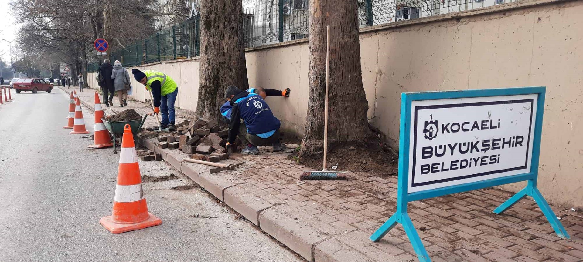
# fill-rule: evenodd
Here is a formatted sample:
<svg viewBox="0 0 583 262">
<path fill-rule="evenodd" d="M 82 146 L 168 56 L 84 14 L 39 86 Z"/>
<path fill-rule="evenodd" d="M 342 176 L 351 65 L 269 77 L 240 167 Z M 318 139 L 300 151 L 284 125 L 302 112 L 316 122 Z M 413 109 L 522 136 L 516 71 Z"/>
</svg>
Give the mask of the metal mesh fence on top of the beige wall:
<svg viewBox="0 0 583 262">
<path fill-rule="evenodd" d="M 308 37 L 308 0 L 240 0 L 243 1 L 245 48 L 280 43 Z M 499 5 L 515 0 L 358 0 L 360 27 L 401 22 L 402 20 L 440 15 Z M 196 2 L 196 0 L 195 0 Z M 199 56 L 201 45 L 200 16 L 180 24 L 168 25 L 144 40 L 111 54 L 111 61 L 124 66 L 185 59 Z M 99 63 L 90 63 L 95 71 Z"/>
</svg>

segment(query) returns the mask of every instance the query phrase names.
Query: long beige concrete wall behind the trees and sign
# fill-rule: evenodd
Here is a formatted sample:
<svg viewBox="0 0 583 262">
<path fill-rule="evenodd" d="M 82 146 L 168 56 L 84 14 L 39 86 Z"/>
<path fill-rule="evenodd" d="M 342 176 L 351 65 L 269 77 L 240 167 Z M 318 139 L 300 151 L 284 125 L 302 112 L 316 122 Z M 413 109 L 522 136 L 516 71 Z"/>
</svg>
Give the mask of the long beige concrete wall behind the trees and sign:
<svg viewBox="0 0 583 262">
<path fill-rule="evenodd" d="M 396 146 L 402 92 L 546 86 L 539 188 L 550 203 L 583 206 L 581 14 L 581 0 L 531 1 L 454 14 L 457 19 L 369 27 L 360 34 L 360 51 L 371 123 Z M 196 108 L 198 60 L 143 68 L 177 80 L 177 106 Z M 301 136 L 309 106 L 307 42 L 250 49 L 247 70 L 251 86 L 293 90 L 267 102 L 283 129 Z M 140 90 L 134 98 L 142 100 L 143 87 L 134 86 Z"/>
</svg>

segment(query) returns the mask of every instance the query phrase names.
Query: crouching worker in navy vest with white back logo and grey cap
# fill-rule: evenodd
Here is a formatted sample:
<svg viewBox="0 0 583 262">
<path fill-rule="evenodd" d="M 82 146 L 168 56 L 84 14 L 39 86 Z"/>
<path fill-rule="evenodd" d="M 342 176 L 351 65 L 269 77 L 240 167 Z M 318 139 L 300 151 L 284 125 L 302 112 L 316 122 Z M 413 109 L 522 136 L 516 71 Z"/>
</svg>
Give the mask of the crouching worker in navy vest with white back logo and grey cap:
<svg viewBox="0 0 583 262">
<path fill-rule="evenodd" d="M 279 141 L 281 123 L 261 96 L 241 91 L 236 86 L 227 87 L 225 96 L 232 107 L 227 147 L 232 146 L 238 136 L 246 145 L 242 154 L 257 155 L 258 146 L 273 146 L 274 152 L 286 149 L 286 145 Z"/>
</svg>

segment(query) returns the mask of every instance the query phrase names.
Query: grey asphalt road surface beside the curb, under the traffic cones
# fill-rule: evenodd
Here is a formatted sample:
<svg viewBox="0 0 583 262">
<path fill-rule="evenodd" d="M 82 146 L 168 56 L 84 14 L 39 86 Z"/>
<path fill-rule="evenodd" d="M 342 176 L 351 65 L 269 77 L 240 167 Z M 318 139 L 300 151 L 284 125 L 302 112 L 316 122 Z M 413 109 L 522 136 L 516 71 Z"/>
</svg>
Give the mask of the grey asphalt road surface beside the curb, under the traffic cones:
<svg viewBox="0 0 583 262">
<path fill-rule="evenodd" d="M 12 97 L 0 105 L 0 261 L 302 261 L 163 161 L 140 162 L 142 175 L 178 175 L 143 182 L 163 224 L 110 233 L 99 219 L 111 214 L 119 154 L 62 129 L 58 88 Z"/>
</svg>

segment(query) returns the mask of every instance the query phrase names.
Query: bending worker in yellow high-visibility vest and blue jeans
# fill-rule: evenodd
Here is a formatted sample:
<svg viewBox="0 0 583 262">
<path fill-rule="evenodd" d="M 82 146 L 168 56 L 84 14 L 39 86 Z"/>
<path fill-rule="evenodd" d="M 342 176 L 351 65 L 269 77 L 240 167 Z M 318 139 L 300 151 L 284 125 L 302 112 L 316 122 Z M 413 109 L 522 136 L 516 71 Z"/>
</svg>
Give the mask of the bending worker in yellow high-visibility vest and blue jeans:
<svg viewBox="0 0 583 262">
<path fill-rule="evenodd" d="M 152 91 L 154 114 L 162 113 L 162 129 L 167 128 L 168 131 L 174 131 L 176 121 L 174 102 L 178 95 L 177 84 L 170 76 L 154 70 L 132 69 L 132 74 L 134 74 L 136 81 L 146 86 L 146 90 Z"/>
</svg>

